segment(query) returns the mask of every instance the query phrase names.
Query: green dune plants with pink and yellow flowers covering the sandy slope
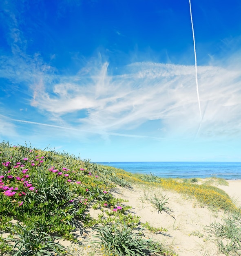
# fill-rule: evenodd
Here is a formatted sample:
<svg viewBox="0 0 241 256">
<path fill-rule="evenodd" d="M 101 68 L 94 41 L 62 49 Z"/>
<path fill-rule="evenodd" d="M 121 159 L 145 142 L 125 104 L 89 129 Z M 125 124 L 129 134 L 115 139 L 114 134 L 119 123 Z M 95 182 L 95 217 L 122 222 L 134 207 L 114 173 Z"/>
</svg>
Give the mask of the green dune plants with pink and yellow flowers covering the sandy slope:
<svg viewBox="0 0 241 256">
<path fill-rule="evenodd" d="M 72 255 L 58 240 L 81 245 L 74 233 L 77 223 L 82 229 L 97 230 L 103 255 L 175 255 L 163 245 L 144 238 L 140 230 L 153 233 L 167 230 L 141 223 L 139 216 L 130 213 L 131 207 L 123 204 L 123 199 L 112 195 L 117 185 L 161 187 L 194 197 L 208 207 L 230 213 L 237 211 L 229 196 L 215 186 L 128 173 L 55 150 L 2 142 L 0 164 L 0 232 L 7 234 L 7 238 L 0 236 L 2 256 Z M 154 196 L 151 201 L 158 211 L 172 212 L 165 197 Z M 87 213 L 91 208 L 102 213 L 92 218 Z M 218 227 L 217 224 L 210 229 Z"/>
</svg>

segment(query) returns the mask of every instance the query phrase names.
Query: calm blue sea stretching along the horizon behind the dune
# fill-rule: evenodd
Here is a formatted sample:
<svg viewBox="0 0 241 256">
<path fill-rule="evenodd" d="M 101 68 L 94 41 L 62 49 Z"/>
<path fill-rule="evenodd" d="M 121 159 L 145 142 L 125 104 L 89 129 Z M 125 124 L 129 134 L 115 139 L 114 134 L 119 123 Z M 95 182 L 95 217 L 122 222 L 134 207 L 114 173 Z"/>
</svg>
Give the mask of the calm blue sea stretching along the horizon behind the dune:
<svg viewBox="0 0 241 256">
<path fill-rule="evenodd" d="M 206 178 L 241 180 L 241 162 L 98 162 L 131 173 L 154 174 L 164 178 Z"/>
</svg>

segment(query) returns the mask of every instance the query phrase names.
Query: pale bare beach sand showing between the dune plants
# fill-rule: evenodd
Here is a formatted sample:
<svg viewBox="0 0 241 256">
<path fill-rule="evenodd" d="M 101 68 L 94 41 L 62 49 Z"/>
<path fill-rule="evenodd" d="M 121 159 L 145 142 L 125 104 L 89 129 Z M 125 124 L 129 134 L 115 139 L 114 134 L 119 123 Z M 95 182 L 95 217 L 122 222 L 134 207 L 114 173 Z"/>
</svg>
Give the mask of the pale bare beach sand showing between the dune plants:
<svg viewBox="0 0 241 256">
<path fill-rule="evenodd" d="M 230 195 L 237 207 L 241 206 L 241 180 L 229 180 L 229 186 L 218 185 Z M 131 206 L 130 213 L 140 216 L 142 223 L 149 222 L 153 227 L 163 227 L 168 231 L 153 234 L 145 231 L 146 238 L 153 238 L 169 248 L 172 248 L 179 256 L 217 256 L 224 255 L 218 253 L 218 248 L 214 244 L 210 233 L 206 230 L 212 222 L 222 222 L 224 211 L 211 211 L 207 207 L 200 206 L 194 199 L 184 197 L 178 193 L 164 191 L 160 188 L 153 188 L 146 185 L 133 186 L 133 188 L 117 187 L 112 192 L 115 197 L 124 198 L 128 202 L 124 203 Z M 164 196 L 168 199 L 170 214 L 162 211 L 161 213 L 153 207 L 150 199 L 153 195 Z M 97 218 L 100 210 L 90 209 L 92 217 Z M 75 250 L 82 255 L 88 252 L 88 255 L 102 255 L 98 246 L 93 253 L 93 245 L 88 247 L 87 240 L 93 240 L 92 235 L 95 232 L 86 229 L 83 236 L 83 245 Z M 65 241 L 65 246 L 70 242 Z M 83 249 L 84 248 L 84 249 Z M 78 254 L 76 254 L 78 255 Z"/>
</svg>

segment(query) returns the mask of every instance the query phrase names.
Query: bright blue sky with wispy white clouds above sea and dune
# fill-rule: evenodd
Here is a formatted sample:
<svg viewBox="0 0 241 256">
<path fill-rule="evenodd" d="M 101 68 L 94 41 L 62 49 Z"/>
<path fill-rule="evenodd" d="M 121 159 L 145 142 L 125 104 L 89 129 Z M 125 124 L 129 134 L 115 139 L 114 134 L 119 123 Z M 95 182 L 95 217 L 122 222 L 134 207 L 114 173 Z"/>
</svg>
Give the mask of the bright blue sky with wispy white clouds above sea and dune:
<svg viewBox="0 0 241 256">
<path fill-rule="evenodd" d="M 0 141 L 93 162 L 241 161 L 241 2 L 0 2 Z M 200 127 L 200 129 L 199 129 Z"/>
</svg>

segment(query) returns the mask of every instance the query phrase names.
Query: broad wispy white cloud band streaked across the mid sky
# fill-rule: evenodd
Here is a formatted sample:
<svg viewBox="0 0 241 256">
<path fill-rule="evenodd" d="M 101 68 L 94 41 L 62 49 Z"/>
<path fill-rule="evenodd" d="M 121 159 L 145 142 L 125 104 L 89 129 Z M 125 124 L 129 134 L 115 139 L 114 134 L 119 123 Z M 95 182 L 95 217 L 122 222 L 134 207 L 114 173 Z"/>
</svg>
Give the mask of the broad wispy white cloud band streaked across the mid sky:
<svg viewBox="0 0 241 256">
<path fill-rule="evenodd" d="M 240 69 L 203 66 L 198 67 L 198 76 L 203 112 L 200 136 L 237 133 Z M 197 131 L 199 110 L 193 66 L 133 63 L 119 75 L 108 75 L 104 63 L 98 72 L 95 69 L 84 78 L 65 76 L 64 80 L 68 82 L 52 83 L 51 94 L 42 90 L 35 95 L 33 106 L 59 118 L 86 110 L 78 125 L 93 132 L 131 130 L 155 119 L 163 121 L 167 133 L 195 135 Z"/>
</svg>

